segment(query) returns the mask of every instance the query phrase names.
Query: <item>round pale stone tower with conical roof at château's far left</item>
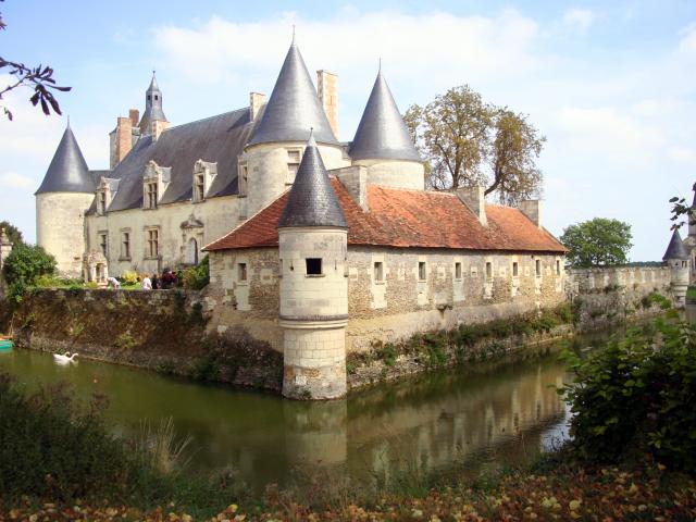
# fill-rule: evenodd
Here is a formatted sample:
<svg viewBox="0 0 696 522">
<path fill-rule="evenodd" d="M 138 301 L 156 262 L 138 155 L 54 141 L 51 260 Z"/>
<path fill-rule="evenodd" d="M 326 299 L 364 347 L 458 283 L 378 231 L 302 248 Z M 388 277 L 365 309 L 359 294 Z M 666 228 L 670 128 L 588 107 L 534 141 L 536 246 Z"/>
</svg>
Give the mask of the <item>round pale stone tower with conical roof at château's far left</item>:
<svg viewBox="0 0 696 522">
<path fill-rule="evenodd" d="M 53 254 L 61 274 L 78 277 L 95 182 L 70 124 L 35 196 L 37 245 Z"/>
</svg>

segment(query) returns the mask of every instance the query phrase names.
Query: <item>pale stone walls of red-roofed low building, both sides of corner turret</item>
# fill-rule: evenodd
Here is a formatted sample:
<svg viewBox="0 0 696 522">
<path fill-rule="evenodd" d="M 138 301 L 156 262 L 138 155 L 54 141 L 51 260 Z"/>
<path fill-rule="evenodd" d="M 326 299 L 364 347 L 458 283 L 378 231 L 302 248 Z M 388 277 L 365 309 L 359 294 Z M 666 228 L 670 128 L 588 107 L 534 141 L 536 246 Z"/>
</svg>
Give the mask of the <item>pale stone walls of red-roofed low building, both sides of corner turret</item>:
<svg viewBox="0 0 696 522">
<path fill-rule="evenodd" d="M 277 249 L 211 252 L 210 262 L 204 300 L 212 312 L 211 327 L 224 332 L 244 324 L 254 337 L 281 350 Z M 419 274 L 421 262 L 424 279 Z M 246 265 L 247 281 L 239 281 L 239 263 Z M 375 263 L 382 263 L 383 281 L 377 281 Z M 368 350 L 374 340 L 394 341 L 462 322 L 508 318 L 552 308 L 566 299 L 562 259 L 552 254 L 350 246 L 346 275 L 348 352 Z"/>
</svg>

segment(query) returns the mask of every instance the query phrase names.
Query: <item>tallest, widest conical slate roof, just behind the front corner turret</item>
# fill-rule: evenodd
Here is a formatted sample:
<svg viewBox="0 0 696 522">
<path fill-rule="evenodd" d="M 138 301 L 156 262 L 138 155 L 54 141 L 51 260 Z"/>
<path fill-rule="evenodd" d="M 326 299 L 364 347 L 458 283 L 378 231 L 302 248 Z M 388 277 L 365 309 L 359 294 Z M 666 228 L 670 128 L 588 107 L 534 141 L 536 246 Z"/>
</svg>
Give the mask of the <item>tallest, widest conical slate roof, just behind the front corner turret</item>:
<svg viewBox="0 0 696 522">
<path fill-rule="evenodd" d="M 314 128 L 320 144 L 337 144 L 300 50 L 293 42 L 249 145 L 304 141 L 308 128 Z"/>
</svg>

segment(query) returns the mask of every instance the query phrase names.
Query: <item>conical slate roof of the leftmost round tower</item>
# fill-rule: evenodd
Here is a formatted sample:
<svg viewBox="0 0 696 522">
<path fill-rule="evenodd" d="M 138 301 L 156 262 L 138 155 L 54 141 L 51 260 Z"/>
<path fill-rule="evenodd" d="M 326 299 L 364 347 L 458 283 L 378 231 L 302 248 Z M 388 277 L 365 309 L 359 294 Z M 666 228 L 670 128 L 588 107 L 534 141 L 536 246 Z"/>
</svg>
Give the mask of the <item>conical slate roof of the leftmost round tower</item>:
<svg viewBox="0 0 696 522">
<path fill-rule="evenodd" d="M 36 194 L 94 191 L 95 182 L 69 125 Z"/>
</svg>

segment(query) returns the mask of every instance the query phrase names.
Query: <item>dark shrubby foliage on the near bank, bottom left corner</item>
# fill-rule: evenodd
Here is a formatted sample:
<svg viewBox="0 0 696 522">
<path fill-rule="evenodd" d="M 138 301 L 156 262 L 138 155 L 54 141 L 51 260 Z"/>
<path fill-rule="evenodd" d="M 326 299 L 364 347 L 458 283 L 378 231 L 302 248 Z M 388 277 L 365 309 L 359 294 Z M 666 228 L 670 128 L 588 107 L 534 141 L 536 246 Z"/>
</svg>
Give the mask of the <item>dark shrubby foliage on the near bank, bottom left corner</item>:
<svg viewBox="0 0 696 522">
<path fill-rule="evenodd" d="M 181 475 L 185 442 L 175 440 L 166 423 L 145 426 L 137 440 L 122 439 L 107 428 L 102 409 L 103 397 L 82 407 L 60 385 L 27 395 L 0 373 L 0 506 L 23 496 L 141 508 L 237 497 L 226 485 Z"/>
</svg>

